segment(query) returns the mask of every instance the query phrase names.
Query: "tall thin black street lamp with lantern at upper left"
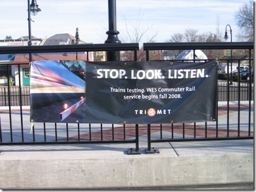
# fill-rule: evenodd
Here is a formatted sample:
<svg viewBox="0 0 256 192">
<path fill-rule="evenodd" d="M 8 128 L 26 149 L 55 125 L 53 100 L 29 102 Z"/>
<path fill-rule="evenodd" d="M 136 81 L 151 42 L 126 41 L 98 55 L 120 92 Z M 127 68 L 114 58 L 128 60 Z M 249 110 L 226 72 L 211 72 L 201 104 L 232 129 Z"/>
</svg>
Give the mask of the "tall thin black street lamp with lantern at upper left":
<svg viewBox="0 0 256 192">
<path fill-rule="evenodd" d="M 39 11 L 41 11 L 40 8 L 38 8 L 38 4 L 36 0 L 32 0 L 32 3 L 30 4 L 30 0 L 27 1 L 27 7 L 28 7 L 28 21 L 29 21 L 29 42 L 28 45 L 31 46 L 32 42 L 31 42 L 31 18 L 30 18 L 30 14 L 31 15 L 37 15 L 37 13 Z M 29 53 L 29 62 L 32 61 L 32 54 Z"/>
</svg>

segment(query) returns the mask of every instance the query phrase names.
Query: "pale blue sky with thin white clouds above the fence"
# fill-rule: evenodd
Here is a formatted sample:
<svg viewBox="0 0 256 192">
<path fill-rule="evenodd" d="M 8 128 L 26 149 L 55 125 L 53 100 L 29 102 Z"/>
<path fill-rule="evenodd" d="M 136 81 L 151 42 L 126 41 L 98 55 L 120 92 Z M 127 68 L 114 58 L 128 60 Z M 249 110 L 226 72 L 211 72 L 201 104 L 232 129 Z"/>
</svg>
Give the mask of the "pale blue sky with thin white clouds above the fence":
<svg viewBox="0 0 256 192">
<path fill-rule="evenodd" d="M 30 0 L 31 2 L 31 0 Z M 230 25 L 238 41 L 235 13 L 249 0 L 116 0 L 118 38 L 129 42 L 127 32 L 145 32 L 143 42 L 167 42 L 174 33 L 194 29 L 198 33 L 225 33 Z M 31 16 L 31 33 L 44 39 L 69 33 L 87 43 L 103 44 L 108 35 L 108 0 L 37 0 L 41 12 Z M 0 39 L 29 35 L 27 0 L 0 0 Z M 229 27 L 227 27 L 228 34 Z M 229 39 L 230 40 L 230 39 Z"/>
</svg>

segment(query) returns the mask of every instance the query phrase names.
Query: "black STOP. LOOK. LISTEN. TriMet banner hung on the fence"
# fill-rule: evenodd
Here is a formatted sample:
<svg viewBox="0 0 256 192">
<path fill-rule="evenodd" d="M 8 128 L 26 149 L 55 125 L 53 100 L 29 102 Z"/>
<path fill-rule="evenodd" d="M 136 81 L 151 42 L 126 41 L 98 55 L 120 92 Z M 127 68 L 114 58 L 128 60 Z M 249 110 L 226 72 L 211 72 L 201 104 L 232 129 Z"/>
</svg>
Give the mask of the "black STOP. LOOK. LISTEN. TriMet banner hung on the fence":
<svg viewBox="0 0 256 192">
<path fill-rule="evenodd" d="M 35 122 L 215 121 L 217 62 L 34 61 L 30 87 Z"/>
</svg>

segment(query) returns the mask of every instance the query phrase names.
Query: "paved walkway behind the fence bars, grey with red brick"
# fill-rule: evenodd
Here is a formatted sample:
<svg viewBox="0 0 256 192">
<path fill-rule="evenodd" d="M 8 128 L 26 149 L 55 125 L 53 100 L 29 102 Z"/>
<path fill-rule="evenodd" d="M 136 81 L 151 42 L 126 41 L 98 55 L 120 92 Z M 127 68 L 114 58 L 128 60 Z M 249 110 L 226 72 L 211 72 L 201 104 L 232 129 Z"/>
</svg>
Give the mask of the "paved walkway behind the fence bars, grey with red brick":
<svg viewBox="0 0 256 192">
<path fill-rule="evenodd" d="M 208 122 L 206 123 L 196 123 L 196 129 L 194 123 L 177 123 L 177 124 L 151 124 L 151 139 L 153 140 L 161 140 L 163 139 L 171 139 L 171 138 L 202 138 L 202 137 L 226 137 L 226 136 L 248 136 L 248 109 L 249 109 L 248 102 L 241 102 L 240 103 L 240 122 L 238 124 L 238 104 L 237 102 L 230 102 L 229 104 L 229 131 L 227 131 L 227 105 L 226 102 L 219 102 L 218 106 L 218 119 L 217 122 Z M 20 131 L 20 107 L 11 107 L 11 114 L 12 114 L 12 126 L 13 126 L 13 133 L 14 133 L 14 141 L 21 140 L 18 136 L 18 132 Z M 25 140 L 27 138 L 31 138 L 32 134 L 30 132 L 30 122 L 29 122 L 29 106 L 22 107 L 23 109 L 23 124 L 25 133 Z M 8 107 L 1 107 L 0 108 L 0 123 L 1 129 L 3 130 L 3 137 L 10 138 L 10 134 L 8 135 L 8 124 L 9 124 L 9 109 Z M 251 118 L 250 118 L 250 136 L 253 136 L 253 102 L 251 102 Z M 218 129 L 216 129 L 216 124 L 218 125 Z M 88 126 L 89 124 L 83 124 L 80 128 L 80 135 L 77 135 L 77 129 L 69 125 L 68 127 L 68 138 L 66 131 L 66 124 L 58 125 L 58 141 L 89 141 L 89 140 L 125 140 L 133 139 L 135 135 L 135 125 L 134 124 L 126 124 L 125 129 L 123 125 L 114 124 L 114 129 L 112 129 L 111 124 L 103 124 L 103 128 L 101 128 L 100 124 L 91 124 L 91 133 L 89 132 Z M 42 126 L 42 125 L 41 125 Z M 49 127 L 49 126 L 48 126 Z M 239 129 L 238 129 L 239 127 Z M 206 129 L 207 128 L 207 129 Z M 49 131 L 51 130 L 51 131 Z M 9 130 L 10 131 L 10 130 Z M 35 126 L 36 131 L 36 141 L 42 140 L 44 137 L 44 133 L 42 128 L 38 128 Z M 46 131 L 46 135 L 49 136 L 47 141 L 54 141 L 56 138 L 54 136 L 54 129 L 48 128 Z M 125 131 L 125 132 L 124 132 Z M 139 140 L 141 138 L 145 138 L 147 136 L 148 125 L 147 124 L 139 124 Z M 217 131 L 217 132 L 216 132 Z M 102 133 L 102 134 L 101 134 Z M 5 134 L 5 135 L 4 135 Z M 227 135 L 228 134 L 228 135 Z M 38 139 L 38 140 L 37 140 Z M 30 139 L 31 141 L 31 139 Z M 134 144 L 132 144 L 134 145 Z M 141 146 L 141 144 L 139 145 Z"/>
</svg>

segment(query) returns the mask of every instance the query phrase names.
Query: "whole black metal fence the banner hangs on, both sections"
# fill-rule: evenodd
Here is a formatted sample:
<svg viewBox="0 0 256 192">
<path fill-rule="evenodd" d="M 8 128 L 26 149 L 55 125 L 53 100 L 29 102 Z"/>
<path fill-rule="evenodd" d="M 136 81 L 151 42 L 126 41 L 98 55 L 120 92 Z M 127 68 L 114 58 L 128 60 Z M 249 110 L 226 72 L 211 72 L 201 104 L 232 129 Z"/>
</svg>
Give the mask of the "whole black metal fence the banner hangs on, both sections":
<svg viewBox="0 0 256 192">
<path fill-rule="evenodd" d="M 253 63 L 253 43 L 154 43 L 143 44 L 146 61 L 155 50 L 245 49 L 249 67 Z M 0 54 L 42 52 L 132 51 L 137 60 L 138 44 L 92 44 L 0 47 Z M 218 58 L 219 61 L 223 58 Z M 193 59 L 195 61 L 195 59 Z M 227 63 L 231 60 L 226 59 Z M 240 66 L 240 60 L 236 59 Z M 6 64 L 11 66 L 13 64 Z M 19 73 L 20 66 L 18 66 Z M 6 68 L 10 70 L 10 68 Z M 10 71 L 8 71 L 9 73 Z M 8 78 L 10 78 L 8 76 Z M 19 76 L 19 81 L 20 81 Z M 45 145 L 69 143 L 134 143 L 128 154 L 138 154 L 141 136 L 147 136 L 148 153 L 157 153 L 151 143 L 167 141 L 253 139 L 253 80 L 229 85 L 229 78 L 218 83 L 217 119 L 205 123 L 181 124 L 79 124 L 31 123 L 29 87 L 13 87 L 10 81 L 0 87 L 0 145 Z"/>
</svg>

